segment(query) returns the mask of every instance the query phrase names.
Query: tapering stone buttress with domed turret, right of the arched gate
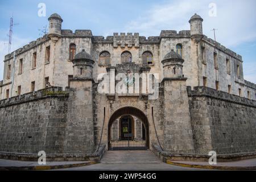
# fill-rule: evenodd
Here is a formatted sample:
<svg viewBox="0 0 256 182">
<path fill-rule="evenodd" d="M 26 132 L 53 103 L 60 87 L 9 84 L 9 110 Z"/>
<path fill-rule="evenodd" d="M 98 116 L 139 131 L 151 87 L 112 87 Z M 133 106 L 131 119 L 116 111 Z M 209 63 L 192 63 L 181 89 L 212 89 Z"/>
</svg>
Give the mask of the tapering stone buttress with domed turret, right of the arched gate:
<svg viewBox="0 0 256 182">
<path fill-rule="evenodd" d="M 163 63 L 164 70 L 164 151 L 194 153 L 186 80 L 181 56 L 173 50 Z"/>
</svg>

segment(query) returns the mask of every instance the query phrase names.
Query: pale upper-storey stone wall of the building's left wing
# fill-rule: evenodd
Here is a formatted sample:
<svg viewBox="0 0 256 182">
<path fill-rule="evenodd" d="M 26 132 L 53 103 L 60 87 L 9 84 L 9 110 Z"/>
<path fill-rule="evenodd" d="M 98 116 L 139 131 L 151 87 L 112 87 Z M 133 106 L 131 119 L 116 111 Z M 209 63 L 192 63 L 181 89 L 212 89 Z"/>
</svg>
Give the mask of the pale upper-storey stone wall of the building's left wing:
<svg viewBox="0 0 256 182">
<path fill-rule="evenodd" d="M 49 63 L 46 63 L 46 47 L 51 47 L 51 55 Z M 32 54 L 36 52 L 36 68 L 32 68 Z M 18 86 L 21 86 L 21 94 L 31 92 L 31 82 L 35 81 L 35 90 L 45 88 L 44 78 L 49 77 L 52 82 L 52 71 L 54 67 L 53 43 L 49 41 L 47 36 L 40 38 L 23 48 L 5 56 L 5 67 L 3 74 L 3 88 L 0 99 L 6 98 L 6 90 L 9 89 L 9 97 L 15 97 L 18 94 Z M 23 59 L 22 73 L 19 72 L 19 60 Z M 11 65 L 11 77 L 7 79 L 7 68 Z M 13 77 L 14 75 L 14 77 Z M 13 84 L 13 85 L 12 85 Z M 13 88 L 13 92 L 11 92 Z"/>
</svg>

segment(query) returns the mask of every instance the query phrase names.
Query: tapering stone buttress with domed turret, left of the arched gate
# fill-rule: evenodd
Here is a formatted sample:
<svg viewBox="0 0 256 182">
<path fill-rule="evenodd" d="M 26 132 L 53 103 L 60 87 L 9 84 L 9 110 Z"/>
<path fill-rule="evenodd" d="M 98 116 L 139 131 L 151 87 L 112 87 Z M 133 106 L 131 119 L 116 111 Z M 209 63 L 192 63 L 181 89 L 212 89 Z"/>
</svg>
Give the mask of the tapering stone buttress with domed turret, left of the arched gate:
<svg viewBox="0 0 256 182">
<path fill-rule="evenodd" d="M 95 150 L 93 131 L 92 56 L 82 50 L 73 62 L 70 83 L 65 154 L 89 154 Z"/>
</svg>

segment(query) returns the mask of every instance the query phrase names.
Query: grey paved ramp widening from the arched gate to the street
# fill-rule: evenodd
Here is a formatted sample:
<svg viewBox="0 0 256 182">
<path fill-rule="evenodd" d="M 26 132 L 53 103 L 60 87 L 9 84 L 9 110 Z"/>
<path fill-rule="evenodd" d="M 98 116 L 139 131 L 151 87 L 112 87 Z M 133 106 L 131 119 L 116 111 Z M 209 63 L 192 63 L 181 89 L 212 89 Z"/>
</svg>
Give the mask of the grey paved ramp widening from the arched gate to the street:
<svg viewBox="0 0 256 182">
<path fill-rule="evenodd" d="M 63 170 L 199 170 L 172 166 L 160 161 L 152 151 L 106 151 L 100 164 Z"/>
</svg>

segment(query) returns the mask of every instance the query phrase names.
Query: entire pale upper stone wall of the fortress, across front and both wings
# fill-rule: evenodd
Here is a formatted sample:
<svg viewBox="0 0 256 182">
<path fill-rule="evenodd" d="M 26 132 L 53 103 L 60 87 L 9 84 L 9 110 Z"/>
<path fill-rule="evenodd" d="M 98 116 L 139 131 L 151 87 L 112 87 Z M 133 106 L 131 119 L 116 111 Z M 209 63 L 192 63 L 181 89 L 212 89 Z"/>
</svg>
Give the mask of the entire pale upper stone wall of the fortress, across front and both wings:
<svg viewBox="0 0 256 182">
<path fill-rule="evenodd" d="M 10 97 L 17 95 L 18 86 L 21 86 L 21 94 L 31 92 L 31 82 L 35 81 L 35 90 L 43 89 L 45 86 L 44 78 L 49 77 L 49 82 L 53 86 L 68 86 L 68 76 L 73 75 L 73 64 L 69 60 L 69 45 L 76 44 L 76 53 L 85 49 L 92 55 L 95 64 L 93 65 L 93 78 L 97 82 L 100 73 L 106 73 L 106 65 L 99 64 L 99 56 L 102 51 L 108 51 L 111 55 L 110 63 L 115 66 L 121 63 L 121 53 L 130 51 L 133 62 L 142 64 L 142 54 L 150 51 L 154 57 L 154 64 L 150 65 L 151 73 L 159 73 L 160 80 L 163 78 L 161 61 L 163 57 L 174 49 L 176 45 L 183 47 L 184 68 L 183 74 L 188 77 L 188 86 L 203 85 L 203 77 L 207 77 L 207 86 L 215 88 L 215 82 L 219 81 L 219 89 L 228 92 L 228 85 L 232 86 L 232 94 L 239 94 L 238 89 L 242 90 L 242 97 L 247 97 L 250 90 L 251 99 L 256 100 L 256 89 L 246 86 L 243 80 L 242 57 L 226 49 L 219 43 L 217 45 L 212 39 L 204 36 L 203 40 L 196 46 L 190 38 L 190 31 L 164 30 L 160 36 L 152 36 L 147 39 L 138 34 L 116 34 L 108 36 L 93 36 L 90 30 L 61 30 L 61 39 L 53 43 L 47 36 L 31 42 L 6 55 L 3 84 L 0 85 L 2 92 L 0 99 L 6 98 L 6 90 L 10 90 Z M 121 36 L 122 35 L 122 36 Z M 136 45 L 135 45 L 136 44 Z M 49 62 L 46 63 L 46 47 L 50 46 L 51 55 Z M 203 64 L 201 47 L 205 47 L 205 64 Z M 32 53 L 37 52 L 36 68 L 32 68 Z M 217 53 L 218 69 L 214 69 L 213 52 Z M 23 72 L 19 73 L 19 60 L 23 59 Z M 230 60 L 230 73 L 226 71 L 226 59 Z M 7 68 L 11 65 L 11 75 L 14 78 L 7 79 Z M 237 77 L 237 65 L 240 65 L 240 78 Z M 13 84 L 13 85 L 12 85 Z M 12 90 L 12 92 L 11 92 Z"/>
</svg>

